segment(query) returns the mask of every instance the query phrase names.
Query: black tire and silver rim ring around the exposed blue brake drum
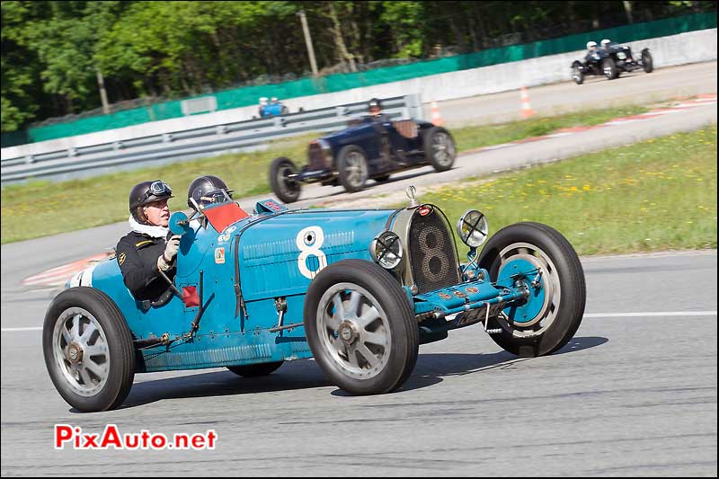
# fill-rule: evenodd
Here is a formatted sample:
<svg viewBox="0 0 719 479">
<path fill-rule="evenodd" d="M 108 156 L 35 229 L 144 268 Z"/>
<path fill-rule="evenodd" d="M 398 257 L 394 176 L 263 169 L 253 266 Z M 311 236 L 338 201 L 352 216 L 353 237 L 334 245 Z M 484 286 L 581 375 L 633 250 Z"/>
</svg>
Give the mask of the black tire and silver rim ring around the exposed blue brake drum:
<svg viewBox="0 0 719 479">
<path fill-rule="evenodd" d="M 498 319 L 503 332 L 491 336 L 513 354 L 551 354 L 569 342 L 581 324 L 587 296 L 584 271 L 566 238 L 554 228 L 539 223 L 517 223 L 502 228 L 484 246 L 479 265 L 496 281 L 502 258 L 510 259 L 520 253 L 533 255 L 537 262 L 545 265 L 542 267 L 545 306 L 529 322 Z"/>
</svg>

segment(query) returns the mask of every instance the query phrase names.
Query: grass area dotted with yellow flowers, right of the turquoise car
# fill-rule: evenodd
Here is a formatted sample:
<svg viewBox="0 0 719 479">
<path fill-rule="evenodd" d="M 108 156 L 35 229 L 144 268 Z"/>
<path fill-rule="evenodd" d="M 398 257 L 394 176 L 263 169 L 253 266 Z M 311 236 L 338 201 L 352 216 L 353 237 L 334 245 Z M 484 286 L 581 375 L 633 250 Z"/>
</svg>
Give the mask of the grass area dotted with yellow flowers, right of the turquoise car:
<svg viewBox="0 0 719 479">
<path fill-rule="evenodd" d="M 580 254 L 716 248 L 716 126 L 503 173 L 422 195 L 490 230 L 538 221 Z M 461 244 L 461 243 L 460 243 Z"/>
</svg>

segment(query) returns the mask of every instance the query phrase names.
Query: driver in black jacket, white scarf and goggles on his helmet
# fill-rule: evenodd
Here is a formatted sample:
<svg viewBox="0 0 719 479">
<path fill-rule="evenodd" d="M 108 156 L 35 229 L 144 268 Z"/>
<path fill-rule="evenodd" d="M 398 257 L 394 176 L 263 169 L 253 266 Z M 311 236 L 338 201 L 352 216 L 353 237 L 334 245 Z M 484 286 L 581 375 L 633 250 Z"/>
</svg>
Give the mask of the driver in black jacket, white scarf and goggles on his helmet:
<svg viewBox="0 0 719 479">
<path fill-rule="evenodd" d="M 180 245 L 180 235 L 172 235 L 167 227 L 173 198 L 170 185 L 162 180 L 141 182 L 129 192 L 129 226 L 127 235 L 115 248 L 122 279 L 132 296 L 138 300 L 155 299 L 168 287 L 163 271 L 173 279 L 173 264 Z"/>
</svg>

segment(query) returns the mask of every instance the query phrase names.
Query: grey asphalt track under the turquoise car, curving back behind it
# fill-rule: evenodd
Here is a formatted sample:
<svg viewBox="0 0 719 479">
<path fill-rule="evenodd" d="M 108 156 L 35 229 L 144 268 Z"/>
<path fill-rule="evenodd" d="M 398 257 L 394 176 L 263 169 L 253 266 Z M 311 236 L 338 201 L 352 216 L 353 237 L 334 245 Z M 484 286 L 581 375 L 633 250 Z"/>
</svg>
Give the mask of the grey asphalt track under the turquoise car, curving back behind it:
<svg viewBox="0 0 719 479">
<path fill-rule="evenodd" d="M 716 63 L 702 65 L 713 68 L 714 90 L 692 94 L 715 93 Z M 546 88 L 584 87 L 594 84 Z M 715 122 L 707 102 L 475 152 L 451 171 L 400 174 L 357 195 L 307 188 L 296 206 L 368 207 L 408 184 L 421 198 L 438 182 Z M 56 288 L 22 279 L 102 253 L 126 231 L 116 224 L 2 246 L 3 476 L 717 475 L 716 251 L 582 258 L 586 314 L 552 356 L 518 359 L 474 326 L 423 345 L 413 375 L 391 395 L 345 395 L 302 359 L 252 379 L 220 368 L 138 375 L 121 409 L 82 414 L 58 395 L 42 359 L 39 326 Z M 56 450 L 55 424 L 166 436 L 215 430 L 217 447 Z"/>
</svg>

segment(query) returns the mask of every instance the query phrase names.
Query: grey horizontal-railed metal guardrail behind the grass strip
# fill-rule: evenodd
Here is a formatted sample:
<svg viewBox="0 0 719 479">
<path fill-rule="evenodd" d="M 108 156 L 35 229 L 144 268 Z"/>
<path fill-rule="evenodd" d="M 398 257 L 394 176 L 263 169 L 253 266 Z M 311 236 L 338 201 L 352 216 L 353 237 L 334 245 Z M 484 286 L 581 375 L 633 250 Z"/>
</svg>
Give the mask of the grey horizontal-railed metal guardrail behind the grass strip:
<svg viewBox="0 0 719 479">
<path fill-rule="evenodd" d="M 392 118 L 422 119 L 419 95 L 382 100 L 383 111 Z M 50 180 L 91 176 L 109 169 L 147 166 L 174 160 L 188 160 L 227 151 L 260 149 L 272 140 L 309 131 L 344 129 L 347 121 L 366 113 L 367 102 L 319 110 L 288 113 L 280 117 L 217 124 L 199 129 L 181 129 L 162 135 L 135 137 L 92 146 L 58 149 L 40 155 L 3 158 L 0 181 L 22 182 L 28 178 Z"/>
</svg>

